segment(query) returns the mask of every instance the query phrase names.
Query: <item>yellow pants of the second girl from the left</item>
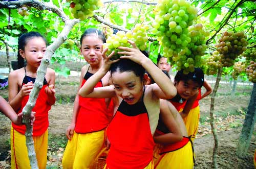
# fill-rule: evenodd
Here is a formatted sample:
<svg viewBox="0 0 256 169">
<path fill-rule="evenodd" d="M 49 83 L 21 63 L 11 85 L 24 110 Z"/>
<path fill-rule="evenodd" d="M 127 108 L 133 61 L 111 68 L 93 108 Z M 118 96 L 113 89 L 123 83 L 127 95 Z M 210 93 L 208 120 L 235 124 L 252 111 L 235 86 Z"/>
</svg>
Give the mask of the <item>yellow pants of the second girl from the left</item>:
<svg viewBox="0 0 256 169">
<path fill-rule="evenodd" d="M 104 146 L 104 141 L 105 130 L 84 134 L 74 132 L 63 154 L 63 169 L 92 167 Z"/>
</svg>

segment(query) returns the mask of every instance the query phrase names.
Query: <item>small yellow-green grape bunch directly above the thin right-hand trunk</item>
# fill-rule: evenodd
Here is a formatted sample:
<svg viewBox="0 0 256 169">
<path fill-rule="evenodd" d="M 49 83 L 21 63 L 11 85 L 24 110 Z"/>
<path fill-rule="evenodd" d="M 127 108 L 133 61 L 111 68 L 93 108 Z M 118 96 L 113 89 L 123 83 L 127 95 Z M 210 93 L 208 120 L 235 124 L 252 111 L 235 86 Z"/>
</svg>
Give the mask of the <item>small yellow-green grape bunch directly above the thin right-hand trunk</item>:
<svg viewBox="0 0 256 169">
<path fill-rule="evenodd" d="M 208 59 L 208 75 L 216 75 L 218 73 L 218 69 L 222 67 L 221 63 L 221 55 L 218 51 L 214 51 L 212 55 Z"/>
</svg>

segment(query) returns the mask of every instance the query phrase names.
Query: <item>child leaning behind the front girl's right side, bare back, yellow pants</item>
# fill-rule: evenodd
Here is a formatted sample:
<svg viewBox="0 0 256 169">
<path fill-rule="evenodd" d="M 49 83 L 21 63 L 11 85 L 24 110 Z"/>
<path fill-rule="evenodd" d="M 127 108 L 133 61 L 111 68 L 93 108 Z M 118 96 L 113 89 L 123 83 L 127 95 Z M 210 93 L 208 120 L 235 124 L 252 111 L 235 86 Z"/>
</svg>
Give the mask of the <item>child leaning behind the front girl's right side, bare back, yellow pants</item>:
<svg viewBox="0 0 256 169">
<path fill-rule="evenodd" d="M 183 136 L 181 139 L 178 129 Z M 185 124 L 176 108 L 166 100 L 160 100 L 160 117 L 154 140 L 161 145 L 154 151 L 156 169 L 193 168 L 193 145 Z"/>
</svg>

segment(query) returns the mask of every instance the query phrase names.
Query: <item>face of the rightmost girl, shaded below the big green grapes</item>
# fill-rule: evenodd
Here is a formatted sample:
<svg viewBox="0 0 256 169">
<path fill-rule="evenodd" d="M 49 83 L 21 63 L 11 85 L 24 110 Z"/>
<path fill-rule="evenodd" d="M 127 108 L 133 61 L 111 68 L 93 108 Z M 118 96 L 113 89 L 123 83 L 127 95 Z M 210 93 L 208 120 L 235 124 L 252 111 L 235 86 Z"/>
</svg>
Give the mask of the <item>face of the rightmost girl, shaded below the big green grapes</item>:
<svg viewBox="0 0 256 169">
<path fill-rule="evenodd" d="M 181 98 L 186 100 L 195 95 L 200 87 L 199 84 L 193 80 L 179 81 L 175 86 Z"/>
</svg>

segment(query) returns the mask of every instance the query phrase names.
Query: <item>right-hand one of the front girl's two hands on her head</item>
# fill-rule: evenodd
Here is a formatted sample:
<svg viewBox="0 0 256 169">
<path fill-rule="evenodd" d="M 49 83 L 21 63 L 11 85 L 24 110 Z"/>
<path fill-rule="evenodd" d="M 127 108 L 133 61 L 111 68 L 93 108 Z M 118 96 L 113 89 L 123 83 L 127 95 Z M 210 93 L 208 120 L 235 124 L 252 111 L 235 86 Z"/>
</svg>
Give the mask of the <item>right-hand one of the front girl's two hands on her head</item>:
<svg viewBox="0 0 256 169">
<path fill-rule="evenodd" d="M 148 59 L 145 55 L 143 55 L 140 50 L 137 48 L 134 41 L 128 40 L 129 43 L 133 45 L 133 48 L 130 47 L 118 47 L 118 49 L 122 50 L 123 52 L 118 52 L 121 56 L 121 59 L 131 59 L 132 61 L 142 64 L 144 59 Z"/>
</svg>

